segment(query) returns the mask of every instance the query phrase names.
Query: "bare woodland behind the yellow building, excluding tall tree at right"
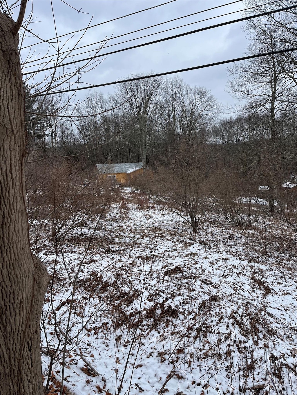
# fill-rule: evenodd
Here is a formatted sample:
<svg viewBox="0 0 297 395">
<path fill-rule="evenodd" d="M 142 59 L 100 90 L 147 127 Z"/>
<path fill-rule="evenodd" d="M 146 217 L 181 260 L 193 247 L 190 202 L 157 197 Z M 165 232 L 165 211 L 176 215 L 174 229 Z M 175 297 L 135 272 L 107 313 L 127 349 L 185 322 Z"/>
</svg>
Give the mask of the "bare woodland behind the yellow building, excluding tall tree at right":
<svg viewBox="0 0 297 395">
<path fill-rule="evenodd" d="M 190 87 L 180 78 L 152 78 L 122 84 L 108 98 L 91 92 L 72 113 L 78 118 L 66 120 L 56 116 L 64 111 L 63 97 L 49 96 L 40 113 L 54 115 L 40 117 L 35 132 L 32 120 L 27 122 L 30 156 L 34 160 L 59 154 L 82 169 L 106 162 L 143 162 L 157 169 L 187 150 L 189 164 L 198 152 L 207 152 L 208 166 L 223 164 L 246 175 L 260 171 L 259 161 L 270 147 L 271 155 L 281 156 L 288 177 L 296 171 L 295 94 L 292 85 L 291 106 L 279 99 L 282 111 L 273 115 L 263 103 L 256 109 L 246 101 L 246 109 L 222 118 L 221 105 L 206 88 Z"/>
</svg>

